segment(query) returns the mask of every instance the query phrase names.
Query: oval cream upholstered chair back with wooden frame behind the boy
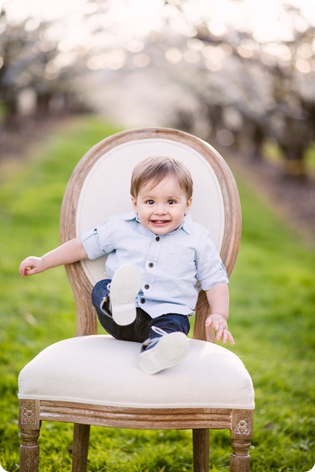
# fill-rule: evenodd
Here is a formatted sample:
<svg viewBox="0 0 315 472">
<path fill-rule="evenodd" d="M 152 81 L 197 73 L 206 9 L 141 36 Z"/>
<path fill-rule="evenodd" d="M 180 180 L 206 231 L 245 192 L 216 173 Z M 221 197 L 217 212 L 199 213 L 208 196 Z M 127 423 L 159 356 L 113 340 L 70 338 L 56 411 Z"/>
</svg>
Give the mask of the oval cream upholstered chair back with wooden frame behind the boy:
<svg viewBox="0 0 315 472">
<path fill-rule="evenodd" d="M 194 182 L 192 219 L 208 230 L 231 274 L 241 233 L 241 211 L 235 180 L 222 156 L 208 143 L 176 129 L 142 128 L 114 134 L 92 147 L 73 171 L 62 204 L 60 238 L 80 235 L 109 215 L 132 211 L 130 179 L 144 158 L 168 154 L 190 170 Z M 67 267 L 78 308 L 77 334 L 95 334 L 91 287 L 106 278 L 105 257 Z M 80 288 L 79 288 L 80 287 Z M 89 303 L 89 310 L 87 305 Z M 206 306 L 201 291 L 199 309 Z M 195 337 L 205 338 L 199 315 Z"/>
</svg>

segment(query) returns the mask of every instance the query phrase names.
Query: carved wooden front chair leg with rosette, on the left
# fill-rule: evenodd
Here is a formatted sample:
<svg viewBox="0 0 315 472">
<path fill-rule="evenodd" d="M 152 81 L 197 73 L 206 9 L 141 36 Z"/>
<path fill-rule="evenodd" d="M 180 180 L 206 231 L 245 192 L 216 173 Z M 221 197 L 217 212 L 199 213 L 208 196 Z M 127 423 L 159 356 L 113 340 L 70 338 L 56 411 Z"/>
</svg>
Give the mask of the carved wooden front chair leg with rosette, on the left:
<svg viewBox="0 0 315 472">
<path fill-rule="evenodd" d="M 19 449 L 20 472 L 38 472 L 39 446 L 37 439 L 40 426 L 39 401 L 20 400 L 19 428 L 22 439 Z"/>
</svg>

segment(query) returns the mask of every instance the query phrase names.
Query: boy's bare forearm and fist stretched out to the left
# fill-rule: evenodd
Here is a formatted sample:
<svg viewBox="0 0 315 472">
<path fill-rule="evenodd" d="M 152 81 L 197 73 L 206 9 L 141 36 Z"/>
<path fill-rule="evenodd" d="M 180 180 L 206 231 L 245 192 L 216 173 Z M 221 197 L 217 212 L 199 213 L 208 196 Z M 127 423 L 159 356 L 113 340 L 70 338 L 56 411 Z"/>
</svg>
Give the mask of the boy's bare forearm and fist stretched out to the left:
<svg viewBox="0 0 315 472">
<path fill-rule="evenodd" d="M 75 237 L 53 249 L 53 251 L 44 254 L 42 257 L 26 257 L 19 266 L 19 273 L 21 277 L 24 277 L 24 275 L 35 275 L 52 267 L 71 264 L 72 262 L 87 258 L 87 253 L 80 238 Z"/>
</svg>

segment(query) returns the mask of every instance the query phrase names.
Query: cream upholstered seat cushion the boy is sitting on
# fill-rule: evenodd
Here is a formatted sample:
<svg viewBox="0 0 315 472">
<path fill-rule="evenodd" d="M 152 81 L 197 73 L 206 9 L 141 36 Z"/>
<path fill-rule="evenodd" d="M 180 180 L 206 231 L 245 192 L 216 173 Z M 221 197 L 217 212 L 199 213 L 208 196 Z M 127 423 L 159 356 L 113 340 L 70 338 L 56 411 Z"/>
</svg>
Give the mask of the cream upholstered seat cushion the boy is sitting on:
<svg viewBox="0 0 315 472">
<path fill-rule="evenodd" d="M 226 348 L 190 339 L 184 361 L 154 376 L 138 368 L 140 348 L 109 335 L 55 343 L 21 370 L 19 399 L 135 408 L 254 408 L 251 377 Z"/>
</svg>

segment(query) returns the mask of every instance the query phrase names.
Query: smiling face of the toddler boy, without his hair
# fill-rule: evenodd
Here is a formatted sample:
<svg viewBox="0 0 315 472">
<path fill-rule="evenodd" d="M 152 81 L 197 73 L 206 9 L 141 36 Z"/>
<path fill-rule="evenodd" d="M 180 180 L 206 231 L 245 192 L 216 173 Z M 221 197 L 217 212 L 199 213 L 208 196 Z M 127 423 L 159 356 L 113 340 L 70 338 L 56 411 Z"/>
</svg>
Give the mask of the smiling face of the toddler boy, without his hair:
<svg viewBox="0 0 315 472">
<path fill-rule="evenodd" d="M 181 225 L 192 199 L 172 176 L 167 176 L 154 188 L 150 182 L 140 188 L 136 199 L 132 197 L 134 210 L 141 224 L 156 235 L 165 235 Z"/>
</svg>

